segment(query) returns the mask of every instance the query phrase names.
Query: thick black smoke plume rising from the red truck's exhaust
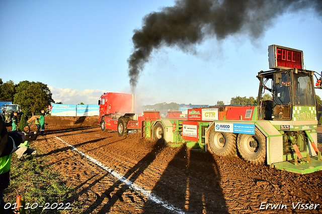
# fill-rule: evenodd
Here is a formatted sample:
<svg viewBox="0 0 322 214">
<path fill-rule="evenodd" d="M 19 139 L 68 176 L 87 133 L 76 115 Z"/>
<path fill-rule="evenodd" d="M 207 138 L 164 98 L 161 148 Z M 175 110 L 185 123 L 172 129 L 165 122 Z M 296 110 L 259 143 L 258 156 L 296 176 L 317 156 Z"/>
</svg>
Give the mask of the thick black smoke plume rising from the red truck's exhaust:
<svg viewBox="0 0 322 214">
<path fill-rule="evenodd" d="M 311 9 L 307 13 L 314 11 L 321 17 L 322 1 L 178 0 L 173 7 L 152 12 L 143 18 L 142 28 L 134 30 L 132 37 L 133 53 L 127 60 L 132 90 L 153 49 L 177 46 L 186 50 L 200 44 L 206 36 L 222 40 L 228 35 L 246 33 L 257 39 L 274 18 L 303 9 Z M 295 33 L 300 29 L 289 30 Z"/>
</svg>

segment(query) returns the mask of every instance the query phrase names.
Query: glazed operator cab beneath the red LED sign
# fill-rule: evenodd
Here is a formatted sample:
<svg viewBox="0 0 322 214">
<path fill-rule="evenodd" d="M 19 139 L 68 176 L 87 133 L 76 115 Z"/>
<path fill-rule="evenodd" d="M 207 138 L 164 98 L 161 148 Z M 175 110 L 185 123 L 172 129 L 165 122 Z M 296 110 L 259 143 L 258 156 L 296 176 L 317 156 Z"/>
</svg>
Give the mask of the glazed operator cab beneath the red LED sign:
<svg viewBox="0 0 322 214">
<path fill-rule="evenodd" d="M 293 106 L 316 106 L 312 75 L 313 71 L 293 68 L 259 72 L 260 120 L 287 121 Z"/>
</svg>

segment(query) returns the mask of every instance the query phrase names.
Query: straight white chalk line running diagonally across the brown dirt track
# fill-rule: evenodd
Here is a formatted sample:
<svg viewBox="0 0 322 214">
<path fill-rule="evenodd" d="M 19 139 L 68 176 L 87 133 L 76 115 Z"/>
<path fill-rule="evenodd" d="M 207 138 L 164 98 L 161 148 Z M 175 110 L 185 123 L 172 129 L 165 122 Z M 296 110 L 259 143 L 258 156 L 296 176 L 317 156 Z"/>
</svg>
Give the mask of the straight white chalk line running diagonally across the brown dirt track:
<svg viewBox="0 0 322 214">
<path fill-rule="evenodd" d="M 113 175 L 115 178 L 119 179 L 120 181 L 122 181 L 124 184 L 126 184 L 128 187 L 141 192 L 143 195 L 145 195 L 149 200 L 152 200 L 155 203 L 158 203 L 160 205 L 162 205 L 163 207 L 177 212 L 177 213 L 185 213 L 184 211 L 182 211 L 180 208 L 174 207 L 173 205 L 163 201 L 160 197 L 158 197 L 157 195 L 151 193 L 150 190 L 145 190 L 144 188 L 136 185 L 135 183 L 133 183 L 132 181 L 126 179 L 124 177 L 124 175 L 122 175 L 121 173 L 115 171 L 114 169 L 109 168 L 108 166 L 105 166 L 103 163 L 101 163 L 100 161 L 96 160 L 95 158 L 92 158 L 91 156 L 85 154 L 82 151 L 79 151 L 78 149 L 76 149 L 75 147 L 73 147 L 72 145 L 68 144 L 66 141 L 54 136 L 55 138 L 57 138 L 58 140 L 60 140 L 61 142 L 65 143 L 67 146 L 71 147 L 72 150 L 74 150 L 75 152 L 78 152 L 79 154 L 83 155 L 84 157 L 86 157 L 87 159 L 89 159 L 92 163 L 98 165 L 99 167 L 101 167 L 102 169 L 104 169 L 105 171 L 109 172 L 111 175 Z"/>
</svg>

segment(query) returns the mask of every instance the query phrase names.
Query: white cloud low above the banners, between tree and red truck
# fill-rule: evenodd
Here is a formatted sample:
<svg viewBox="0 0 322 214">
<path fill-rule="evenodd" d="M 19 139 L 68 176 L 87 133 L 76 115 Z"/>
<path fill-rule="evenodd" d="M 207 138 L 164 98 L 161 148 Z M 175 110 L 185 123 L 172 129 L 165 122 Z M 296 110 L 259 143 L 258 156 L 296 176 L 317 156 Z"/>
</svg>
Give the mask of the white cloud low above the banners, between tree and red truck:
<svg viewBox="0 0 322 214">
<path fill-rule="evenodd" d="M 52 93 L 52 98 L 55 102 L 62 102 L 63 104 L 97 104 L 102 94 L 108 91 L 86 89 L 84 91 L 73 88 L 55 88 L 48 87 Z"/>
</svg>

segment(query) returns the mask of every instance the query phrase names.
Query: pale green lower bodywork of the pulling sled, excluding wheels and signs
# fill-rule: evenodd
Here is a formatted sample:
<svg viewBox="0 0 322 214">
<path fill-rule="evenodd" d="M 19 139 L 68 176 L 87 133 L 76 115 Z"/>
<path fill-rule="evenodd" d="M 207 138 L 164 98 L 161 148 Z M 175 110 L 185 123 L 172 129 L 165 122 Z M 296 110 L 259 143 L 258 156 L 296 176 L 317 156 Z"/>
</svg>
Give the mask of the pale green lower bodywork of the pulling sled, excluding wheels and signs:
<svg viewBox="0 0 322 214">
<path fill-rule="evenodd" d="M 309 111 L 309 112 L 308 112 Z M 313 112 L 311 112 L 313 111 Z M 296 118 L 290 121 L 266 121 L 266 120 L 255 120 L 258 118 L 257 112 L 254 111 L 251 121 L 227 121 L 218 120 L 213 122 L 198 122 L 198 141 L 187 141 L 182 138 L 182 124 L 185 119 L 163 119 L 156 121 L 145 121 L 145 138 L 154 139 L 153 127 L 156 123 L 163 124 L 165 128 L 164 138 L 165 144 L 172 147 L 179 147 L 185 144 L 189 148 L 199 149 L 200 151 L 206 151 L 207 144 L 207 133 L 209 133 L 210 126 L 214 123 L 230 123 L 230 124 L 254 124 L 255 129 L 259 129 L 263 135 L 266 137 L 266 157 L 267 164 L 275 167 L 276 169 L 291 171 L 299 174 L 311 173 L 315 171 L 322 170 L 322 161 L 319 157 L 312 153 L 312 148 L 310 148 L 310 140 L 307 137 L 299 137 L 296 139 L 296 144 L 300 150 L 302 157 L 298 160 L 298 164 L 295 164 L 295 154 L 292 146 L 285 147 L 284 141 L 290 140 L 287 132 L 295 131 L 305 131 L 310 133 L 310 135 L 315 135 L 316 137 L 316 120 L 302 120 L 302 119 L 312 119 L 316 117 L 316 111 L 308 106 L 301 106 L 300 110 L 298 107 L 294 107 L 292 114 Z M 176 130 L 173 132 L 173 124 L 176 124 Z M 287 129 L 287 130 L 285 130 Z M 302 133 L 303 133 L 302 132 Z M 300 133 L 300 132 L 296 132 Z M 301 134 L 299 134 L 301 135 Z M 283 140 L 283 138 L 285 138 Z M 291 152 L 289 154 L 284 154 L 284 149 L 288 148 Z M 307 156 L 309 156 L 310 161 L 307 161 Z"/>
</svg>

